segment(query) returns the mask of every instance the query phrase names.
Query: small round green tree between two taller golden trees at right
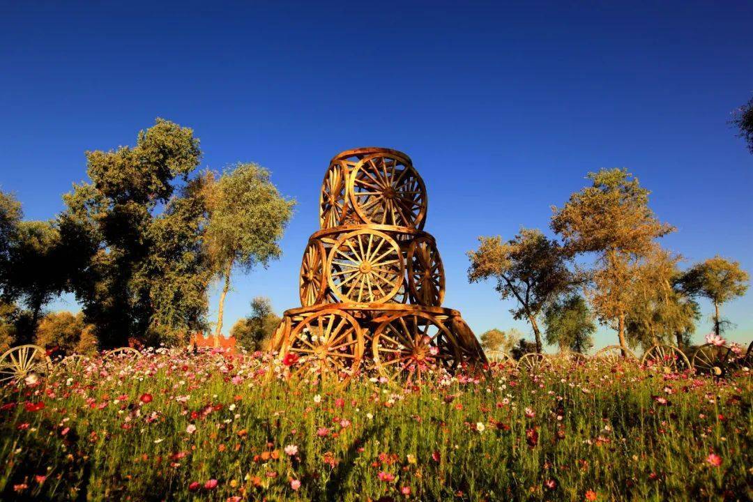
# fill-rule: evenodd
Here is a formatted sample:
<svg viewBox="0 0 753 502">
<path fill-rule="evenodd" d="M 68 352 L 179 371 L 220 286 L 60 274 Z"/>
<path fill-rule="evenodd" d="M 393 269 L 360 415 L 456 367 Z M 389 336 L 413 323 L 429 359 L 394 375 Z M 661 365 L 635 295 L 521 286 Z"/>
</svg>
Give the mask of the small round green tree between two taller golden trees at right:
<svg viewBox="0 0 753 502">
<path fill-rule="evenodd" d="M 570 295 L 547 306 L 544 326 L 547 343 L 559 346 L 560 351 L 583 354 L 593 347 L 596 324 L 580 295 Z"/>
</svg>

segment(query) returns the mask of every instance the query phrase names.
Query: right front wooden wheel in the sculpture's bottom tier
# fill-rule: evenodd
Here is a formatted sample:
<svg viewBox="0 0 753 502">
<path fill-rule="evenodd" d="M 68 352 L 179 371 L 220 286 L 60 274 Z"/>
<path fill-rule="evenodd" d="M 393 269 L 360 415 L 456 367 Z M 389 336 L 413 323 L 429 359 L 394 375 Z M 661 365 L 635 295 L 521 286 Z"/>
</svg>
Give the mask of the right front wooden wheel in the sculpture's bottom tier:
<svg viewBox="0 0 753 502">
<path fill-rule="evenodd" d="M 450 330 L 425 312 L 401 312 L 374 330 L 371 342 L 374 367 L 394 381 L 419 381 L 425 374 L 453 370 L 461 360 Z"/>
</svg>

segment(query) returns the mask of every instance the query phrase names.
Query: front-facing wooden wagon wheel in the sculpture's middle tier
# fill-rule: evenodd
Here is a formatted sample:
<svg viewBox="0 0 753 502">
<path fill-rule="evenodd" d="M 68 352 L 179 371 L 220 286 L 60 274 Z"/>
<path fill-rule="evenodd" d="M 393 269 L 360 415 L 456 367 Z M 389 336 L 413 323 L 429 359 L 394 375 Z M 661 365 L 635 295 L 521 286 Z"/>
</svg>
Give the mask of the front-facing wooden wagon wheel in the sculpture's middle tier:
<svg viewBox="0 0 753 502">
<path fill-rule="evenodd" d="M 384 303 L 404 281 L 400 246 L 375 230 L 356 230 L 337 239 L 327 269 L 330 288 L 346 302 Z"/>
</svg>

